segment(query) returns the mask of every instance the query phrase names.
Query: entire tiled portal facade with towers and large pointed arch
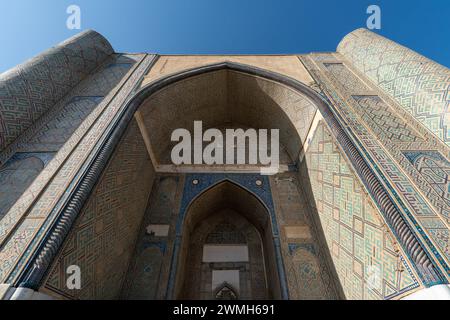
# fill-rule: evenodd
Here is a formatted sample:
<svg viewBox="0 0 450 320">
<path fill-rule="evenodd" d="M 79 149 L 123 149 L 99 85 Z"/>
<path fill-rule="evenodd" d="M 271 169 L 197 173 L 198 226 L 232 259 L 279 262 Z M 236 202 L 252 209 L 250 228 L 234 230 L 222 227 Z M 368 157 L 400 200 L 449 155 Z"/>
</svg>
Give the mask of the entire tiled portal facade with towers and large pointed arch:
<svg viewBox="0 0 450 320">
<path fill-rule="evenodd" d="M 365 29 L 279 56 L 83 32 L 0 76 L 0 297 L 449 299 L 449 89 Z M 278 173 L 174 164 L 195 121 L 278 129 Z"/>
</svg>

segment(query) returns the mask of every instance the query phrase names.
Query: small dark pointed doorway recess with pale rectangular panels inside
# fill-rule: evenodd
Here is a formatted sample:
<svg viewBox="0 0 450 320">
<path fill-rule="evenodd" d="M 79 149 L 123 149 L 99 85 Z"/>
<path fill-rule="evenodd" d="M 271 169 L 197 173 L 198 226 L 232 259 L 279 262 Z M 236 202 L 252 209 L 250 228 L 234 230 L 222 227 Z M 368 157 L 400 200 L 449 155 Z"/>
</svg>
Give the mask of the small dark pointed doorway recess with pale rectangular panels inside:
<svg viewBox="0 0 450 320">
<path fill-rule="evenodd" d="M 272 225 L 266 207 L 224 181 L 196 198 L 185 215 L 177 299 L 279 299 Z"/>
</svg>

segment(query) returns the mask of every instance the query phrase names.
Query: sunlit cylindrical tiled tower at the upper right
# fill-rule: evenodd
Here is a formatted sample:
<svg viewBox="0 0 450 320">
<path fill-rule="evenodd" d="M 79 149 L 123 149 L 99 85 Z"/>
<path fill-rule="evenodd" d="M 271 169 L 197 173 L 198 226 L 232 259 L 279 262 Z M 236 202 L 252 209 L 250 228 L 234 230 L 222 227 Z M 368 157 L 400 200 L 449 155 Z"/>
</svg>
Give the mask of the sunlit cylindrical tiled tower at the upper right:
<svg viewBox="0 0 450 320">
<path fill-rule="evenodd" d="M 450 70 L 365 29 L 347 35 L 337 51 L 450 145 Z"/>
</svg>

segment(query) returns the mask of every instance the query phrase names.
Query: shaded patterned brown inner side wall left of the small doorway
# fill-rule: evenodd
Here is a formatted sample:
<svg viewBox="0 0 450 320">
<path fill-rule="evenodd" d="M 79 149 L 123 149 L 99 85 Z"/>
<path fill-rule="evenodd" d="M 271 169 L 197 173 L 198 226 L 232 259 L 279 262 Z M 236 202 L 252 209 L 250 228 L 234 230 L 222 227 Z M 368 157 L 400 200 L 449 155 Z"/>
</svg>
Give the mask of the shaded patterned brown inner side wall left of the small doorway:
<svg viewBox="0 0 450 320">
<path fill-rule="evenodd" d="M 144 141 L 133 120 L 51 267 L 45 288 L 77 299 L 120 294 L 152 184 Z M 81 269 L 81 290 L 66 288 L 66 269 Z"/>
</svg>

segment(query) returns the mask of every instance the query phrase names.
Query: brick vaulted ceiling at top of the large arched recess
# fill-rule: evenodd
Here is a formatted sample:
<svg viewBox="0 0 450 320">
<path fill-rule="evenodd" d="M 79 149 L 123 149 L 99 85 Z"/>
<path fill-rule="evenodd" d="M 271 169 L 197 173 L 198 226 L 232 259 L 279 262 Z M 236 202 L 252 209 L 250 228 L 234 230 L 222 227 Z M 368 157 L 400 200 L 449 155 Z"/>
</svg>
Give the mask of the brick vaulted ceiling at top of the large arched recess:
<svg viewBox="0 0 450 320">
<path fill-rule="evenodd" d="M 149 96 L 137 111 L 149 132 L 153 161 L 170 165 L 175 129 L 194 132 L 194 121 L 209 128 L 280 130 L 280 162 L 296 163 L 317 111 L 301 92 L 280 82 L 234 68 L 194 74 Z"/>
</svg>

